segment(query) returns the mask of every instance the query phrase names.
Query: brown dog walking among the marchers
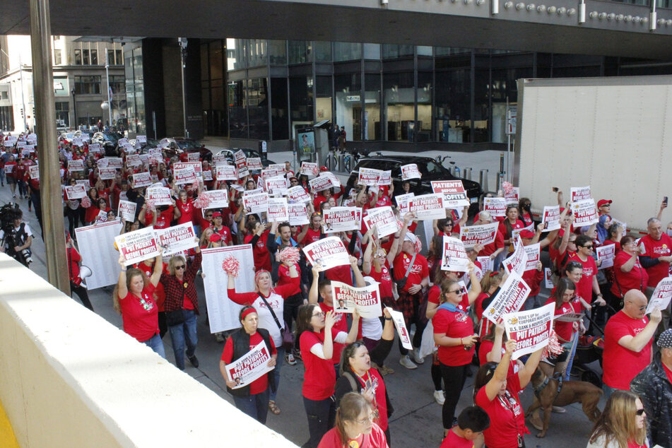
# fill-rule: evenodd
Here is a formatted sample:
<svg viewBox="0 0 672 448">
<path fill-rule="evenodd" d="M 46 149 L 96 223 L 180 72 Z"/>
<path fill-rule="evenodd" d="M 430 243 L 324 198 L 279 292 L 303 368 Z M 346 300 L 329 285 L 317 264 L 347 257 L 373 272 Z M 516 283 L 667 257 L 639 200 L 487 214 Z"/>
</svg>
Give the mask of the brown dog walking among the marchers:
<svg viewBox="0 0 672 448">
<path fill-rule="evenodd" d="M 547 381 L 548 379 L 548 381 Z M 553 411 L 553 406 L 567 406 L 571 403 L 582 403 L 583 410 L 589 420 L 593 423 L 601 415 L 597 408 L 597 403 L 602 396 L 602 390 L 594 384 L 585 381 L 563 381 L 562 384 L 558 379 L 549 378 L 541 369 L 537 367 L 531 379 L 532 387 L 534 387 L 534 401 L 527 409 L 525 415 L 530 417 L 533 425 L 536 418 L 535 411 L 538 408 L 543 410 L 543 425 L 541 425 L 541 432 L 536 437 L 544 437 L 548 430 L 548 423 L 550 422 L 550 412 Z M 558 386 L 560 390 L 558 391 Z M 535 425 L 535 428 L 538 424 Z"/>
</svg>

